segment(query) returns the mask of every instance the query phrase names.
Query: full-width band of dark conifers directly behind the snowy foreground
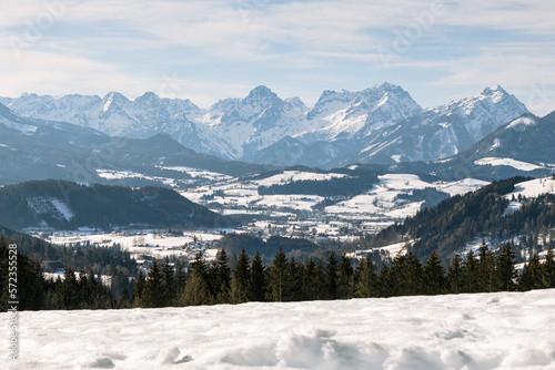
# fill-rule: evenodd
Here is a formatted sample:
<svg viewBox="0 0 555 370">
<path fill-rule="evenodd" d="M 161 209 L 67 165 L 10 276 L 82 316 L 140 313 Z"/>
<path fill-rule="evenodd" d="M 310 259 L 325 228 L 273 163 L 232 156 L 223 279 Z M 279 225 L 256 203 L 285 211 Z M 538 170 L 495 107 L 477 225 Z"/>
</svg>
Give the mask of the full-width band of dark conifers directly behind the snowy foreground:
<svg viewBox="0 0 555 370">
<path fill-rule="evenodd" d="M 9 299 L 9 241 L 0 236 L 1 309 Z M 396 255 L 380 268 L 370 257 L 356 267 L 346 255 L 333 251 L 325 263 L 306 264 L 287 258 L 282 248 L 265 266 L 256 253 L 242 250 L 235 267 L 222 249 L 213 263 L 202 255 L 189 268 L 175 270 L 172 264 L 154 260 L 145 276 L 134 279 L 132 288 L 115 294 L 92 270 L 77 274 L 65 268 L 63 279 L 44 279 L 41 266 L 26 254 L 17 254 L 18 299 L 21 310 L 40 309 L 113 309 L 183 307 L 249 301 L 301 301 L 413 295 L 516 291 L 555 288 L 555 260 L 549 247 L 546 259 L 535 255 L 517 274 L 513 247 L 506 244 L 497 251 L 483 243 L 477 253 L 457 255 L 445 268 L 435 251 L 421 261 L 412 253 Z"/>
</svg>

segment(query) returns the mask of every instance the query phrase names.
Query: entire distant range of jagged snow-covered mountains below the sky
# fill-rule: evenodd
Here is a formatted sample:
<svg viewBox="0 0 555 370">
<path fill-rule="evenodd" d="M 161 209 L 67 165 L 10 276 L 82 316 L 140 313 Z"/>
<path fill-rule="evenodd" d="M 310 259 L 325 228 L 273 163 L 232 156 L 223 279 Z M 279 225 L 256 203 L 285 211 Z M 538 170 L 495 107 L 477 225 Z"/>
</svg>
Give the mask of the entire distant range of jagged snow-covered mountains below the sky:
<svg viewBox="0 0 555 370">
<path fill-rule="evenodd" d="M 312 109 L 265 86 L 209 110 L 154 93 L 134 100 L 115 92 L 104 97 L 23 94 L 0 97 L 0 103 L 23 117 L 69 122 L 112 136 L 147 138 L 163 132 L 226 160 L 309 166 L 441 160 L 529 113 L 498 85 L 423 110 L 390 83 L 361 92 L 324 91 Z"/>
</svg>

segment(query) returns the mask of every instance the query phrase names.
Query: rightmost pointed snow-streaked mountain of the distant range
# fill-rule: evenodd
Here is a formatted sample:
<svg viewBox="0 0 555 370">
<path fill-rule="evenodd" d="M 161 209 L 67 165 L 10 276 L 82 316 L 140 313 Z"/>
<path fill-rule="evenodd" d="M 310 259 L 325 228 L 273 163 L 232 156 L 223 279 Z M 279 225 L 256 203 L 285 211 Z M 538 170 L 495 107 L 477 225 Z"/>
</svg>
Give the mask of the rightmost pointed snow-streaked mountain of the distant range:
<svg viewBox="0 0 555 370">
<path fill-rule="evenodd" d="M 357 161 L 394 164 L 446 158 L 525 113 L 528 110 L 514 95 L 497 85 L 487 88 L 376 132 Z"/>
</svg>

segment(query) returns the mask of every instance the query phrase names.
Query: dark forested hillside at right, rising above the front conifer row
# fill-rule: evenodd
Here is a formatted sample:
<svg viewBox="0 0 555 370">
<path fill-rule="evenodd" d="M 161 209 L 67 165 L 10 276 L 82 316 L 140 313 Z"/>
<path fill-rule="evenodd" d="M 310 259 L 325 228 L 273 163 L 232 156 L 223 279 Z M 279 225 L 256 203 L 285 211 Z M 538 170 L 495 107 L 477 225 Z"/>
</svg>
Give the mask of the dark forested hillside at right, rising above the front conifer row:
<svg viewBox="0 0 555 370">
<path fill-rule="evenodd" d="M 515 199 L 522 207 L 507 212 L 509 201 L 503 195 L 514 191 L 525 177 L 494 182 L 476 192 L 455 195 L 432 208 L 423 208 L 403 224 L 393 225 L 377 234 L 370 246 L 383 246 L 406 239 L 417 240 L 413 253 L 425 258 L 432 250 L 442 257 L 463 249 L 476 236 L 511 239 L 522 236 L 522 247 L 535 247 L 538 237 L 547 236 L 555 227 L 555 195 L 535 199 Z"/>
</svg>

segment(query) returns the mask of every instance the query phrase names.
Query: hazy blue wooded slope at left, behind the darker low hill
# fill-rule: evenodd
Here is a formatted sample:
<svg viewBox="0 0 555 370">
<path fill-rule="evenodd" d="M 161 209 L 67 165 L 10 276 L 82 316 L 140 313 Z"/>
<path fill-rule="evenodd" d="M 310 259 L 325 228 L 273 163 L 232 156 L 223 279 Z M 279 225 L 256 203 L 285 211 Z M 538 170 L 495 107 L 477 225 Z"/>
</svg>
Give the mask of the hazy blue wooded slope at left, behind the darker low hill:
<svg viewBox="0 0 555 370">
<path fill-rule="evenodd" d="M 252 165 L 199 154 L 157 134 L 144 140 L 110 137 L 79 125 L 23 119 L 0 104 L 0 185 L 28 179 L 63 178 L 79 183 L 164 185 L 165 178 L 186 182 L 200 168 L 231 176 L 260 173 L 275 166 Z M 99 171 L 137 173 L 132 181 L 99 177 Z M 200 177 L 196 177 L 196 182 Z M 168 184 L 165 184 L 168 185 Z"/>
</svg>

